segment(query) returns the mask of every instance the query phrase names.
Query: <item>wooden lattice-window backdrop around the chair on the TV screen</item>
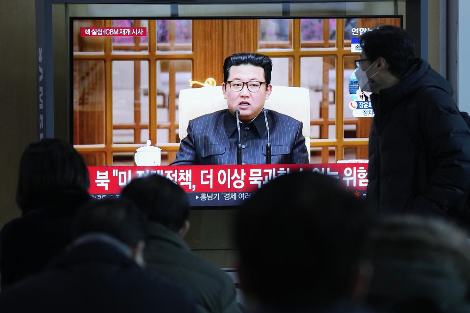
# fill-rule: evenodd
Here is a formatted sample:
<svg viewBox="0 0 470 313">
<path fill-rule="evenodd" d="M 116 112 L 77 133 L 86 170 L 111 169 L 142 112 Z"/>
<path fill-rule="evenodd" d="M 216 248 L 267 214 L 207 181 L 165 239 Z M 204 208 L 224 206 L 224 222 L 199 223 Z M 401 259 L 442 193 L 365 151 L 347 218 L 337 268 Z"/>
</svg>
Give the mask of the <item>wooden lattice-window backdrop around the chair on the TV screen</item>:
<svg viewBox="0 0 470 313">
<path fill-rule="evenodd" d="M 402 17 L 73 17 L 71 142 L 88 166 L 135 166 L 150 139 L 168 165 L 180 91 L 220 86 L 228 55 L 257 52 L 272 59 L 272 85 L 309 91 L 310 163 L 367 159 L 373 112 L 354 60 L 360 35 L 382 24 L 402 26 Z"/>
</svg>

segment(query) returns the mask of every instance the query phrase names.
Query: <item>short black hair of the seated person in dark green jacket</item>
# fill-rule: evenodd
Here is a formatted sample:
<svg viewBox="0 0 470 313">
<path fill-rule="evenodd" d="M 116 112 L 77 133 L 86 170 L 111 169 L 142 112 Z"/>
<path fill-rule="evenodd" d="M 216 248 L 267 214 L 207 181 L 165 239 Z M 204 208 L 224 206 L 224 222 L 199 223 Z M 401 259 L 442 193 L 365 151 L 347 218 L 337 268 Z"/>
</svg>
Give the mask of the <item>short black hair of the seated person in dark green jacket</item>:
<svg viewBox="0 0 470 313">
<path fill-rule="evenodd" d="M 150 222 L 163 224 L 178 232 L 189 216 L 186 192 L 173 181 L 150 175 L 133 179 L 124 187 L 121 197 L 133 201 L 147 214 Z"/>
</svg>

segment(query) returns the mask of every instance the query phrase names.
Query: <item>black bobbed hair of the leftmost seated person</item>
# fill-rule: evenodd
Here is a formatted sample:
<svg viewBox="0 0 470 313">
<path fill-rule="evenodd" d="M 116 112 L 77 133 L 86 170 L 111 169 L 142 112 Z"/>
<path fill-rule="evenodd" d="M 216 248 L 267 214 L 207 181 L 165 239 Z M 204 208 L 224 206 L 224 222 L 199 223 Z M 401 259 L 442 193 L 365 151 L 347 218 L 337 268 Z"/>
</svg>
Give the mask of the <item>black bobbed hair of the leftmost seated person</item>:
<svg viewBox="0 0 470 313">
<path fill-rule="evenodd" d="M 90 178 L 83 157 L 60 139 L 30 143 L 20 160 L 16 201 L 23 213 L 38 204 L 38 198 L 62 190 L 88 192 Z"/>
</svg>

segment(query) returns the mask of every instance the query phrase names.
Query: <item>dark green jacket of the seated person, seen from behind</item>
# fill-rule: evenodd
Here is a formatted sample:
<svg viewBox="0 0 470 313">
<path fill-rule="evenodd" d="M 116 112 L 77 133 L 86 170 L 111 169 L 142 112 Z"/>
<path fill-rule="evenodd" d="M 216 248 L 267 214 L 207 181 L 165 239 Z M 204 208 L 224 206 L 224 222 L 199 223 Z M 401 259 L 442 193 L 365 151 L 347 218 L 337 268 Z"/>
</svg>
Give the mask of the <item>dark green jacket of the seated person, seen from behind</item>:
<svg viewBox="0 0 470 313">
<path fill-rule="evenodd" d="M 176 232 L 162 224 L 150 222 L 148 230 L 144 253 L 148 269 L 193 291 L 200 312 L 240 312 L 228 274 L 194 254 Z"/>
</svg>

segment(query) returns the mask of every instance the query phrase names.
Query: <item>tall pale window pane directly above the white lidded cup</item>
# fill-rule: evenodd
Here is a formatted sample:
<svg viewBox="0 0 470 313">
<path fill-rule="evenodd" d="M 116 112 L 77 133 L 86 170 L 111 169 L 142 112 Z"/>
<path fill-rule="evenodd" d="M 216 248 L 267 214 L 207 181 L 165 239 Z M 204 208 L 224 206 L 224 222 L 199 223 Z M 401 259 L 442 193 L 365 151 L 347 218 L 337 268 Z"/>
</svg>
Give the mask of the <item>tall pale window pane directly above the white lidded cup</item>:
<svg viewBox="0 0 470 313">
<path fill-rule="evenodd" d="M 145 142 L 142 129 L 148 131 L 148 61 L 114 61 L 113 143 Z"/>
</svg>

